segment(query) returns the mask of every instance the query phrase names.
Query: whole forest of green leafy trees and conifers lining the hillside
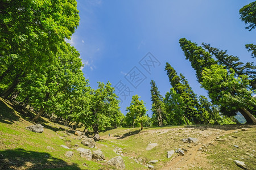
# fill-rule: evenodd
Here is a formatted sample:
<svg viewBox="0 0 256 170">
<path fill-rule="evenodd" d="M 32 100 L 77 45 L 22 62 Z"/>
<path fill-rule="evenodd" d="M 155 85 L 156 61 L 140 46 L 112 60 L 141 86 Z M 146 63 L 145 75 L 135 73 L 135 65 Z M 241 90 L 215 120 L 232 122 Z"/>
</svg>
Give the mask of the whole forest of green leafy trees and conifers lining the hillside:
<svg viewBox="0 0 256 170">
<path fill-rule="evenodd" d="M 151 80 L 152 117 L 146 114 L 139 94 L 132 97 L 127 113 L 121 113 L 118 96 L 110 82 L 90 87 L 81 70 L 79 51 L 69 44 L 79 26 L 77 2 L 0 2 L 0 96 L 24 112 L 31 121 L 41 116 L 73 129 L 83 127 L 94 135 L 108 127 L 143 127 L 194 124 L 256 124 L 256 66 L 210 44 L 198 45 L 185 38 L 179 45 L 195 70 L 197 82 L 208 96 L 193 92 L 182 73 L 166 62 L 170 91 L 160 95 Z M 256 28 L 256 2 L 238 11 L 245 29 Z M 245 44 L 256 58 L 256 45 Z"/>
</svg>

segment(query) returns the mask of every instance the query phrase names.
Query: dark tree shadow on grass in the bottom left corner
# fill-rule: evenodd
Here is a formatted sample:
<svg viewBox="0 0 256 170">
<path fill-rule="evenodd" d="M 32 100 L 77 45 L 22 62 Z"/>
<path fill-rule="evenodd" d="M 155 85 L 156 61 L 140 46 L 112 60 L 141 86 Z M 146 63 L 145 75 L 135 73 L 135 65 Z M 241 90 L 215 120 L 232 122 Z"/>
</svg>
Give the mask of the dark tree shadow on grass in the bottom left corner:
<svg viewBox="0 0 256 170">
<path fill-rule="evenodd" d="M 0 169 L 80 169 L 47 152 L 26 151 L 22 148 L 0 151 Z"/>
</svg>

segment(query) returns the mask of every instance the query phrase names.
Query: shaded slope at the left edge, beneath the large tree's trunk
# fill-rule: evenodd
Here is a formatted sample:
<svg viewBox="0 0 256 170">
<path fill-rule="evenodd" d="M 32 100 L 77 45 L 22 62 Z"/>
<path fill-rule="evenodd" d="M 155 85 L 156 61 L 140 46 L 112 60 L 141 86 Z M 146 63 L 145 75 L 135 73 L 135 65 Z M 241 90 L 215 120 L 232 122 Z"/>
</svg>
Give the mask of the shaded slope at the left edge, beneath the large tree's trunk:
<svg viewBox="0 0 256 170">
<path fill-rule="evenodd" d="M 5 101 L 0 100 L 0 122 L 5 124 L 13 124 L 19 120 L 19 116 L 15 114 L 14 109 L 7 107 Z"/>
</svg>

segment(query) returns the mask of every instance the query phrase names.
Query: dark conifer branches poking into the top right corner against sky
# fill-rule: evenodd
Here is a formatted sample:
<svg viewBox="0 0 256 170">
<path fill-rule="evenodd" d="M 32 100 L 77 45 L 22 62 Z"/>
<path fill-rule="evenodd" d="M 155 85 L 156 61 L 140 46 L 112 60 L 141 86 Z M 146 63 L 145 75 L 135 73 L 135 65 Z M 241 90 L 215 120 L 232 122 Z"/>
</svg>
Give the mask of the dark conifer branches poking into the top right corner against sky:
<svg viewBox="0 0 256 170">
<path fill-rule="evenodd" d="M 240 10 L 240 19 L 245 22 L 245 24 L 249 24 L 246 29 L 249 31 L 253 30 L 256 27 L 256 2 L 251 2 L 248 5 L 243 6 Z"/>
</svg>

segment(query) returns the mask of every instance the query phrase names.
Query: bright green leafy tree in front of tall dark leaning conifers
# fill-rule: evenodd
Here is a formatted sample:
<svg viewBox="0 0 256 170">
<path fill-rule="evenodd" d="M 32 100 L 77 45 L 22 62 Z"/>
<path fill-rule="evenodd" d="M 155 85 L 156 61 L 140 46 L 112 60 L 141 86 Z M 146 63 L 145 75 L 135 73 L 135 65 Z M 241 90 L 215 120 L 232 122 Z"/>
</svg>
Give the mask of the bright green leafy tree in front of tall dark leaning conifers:
<svg viewBox="0 0 256 170">
<path fill-rule="evenodd" d="M 208 90 L 213 104 L 221 105 L 222 113 L 228 116 L 236 116 L 236 111 L 240 108 L 251 110 L 256 105 L 256 99 L 251 96 L 253 92 L 246 88 L 249 85 L 247 76 L 236 78 L 234 74 L 232 69 L 228 73 L 221 65 L 212 65 L 202 73 L 202 87 Z"/>
</svg>

